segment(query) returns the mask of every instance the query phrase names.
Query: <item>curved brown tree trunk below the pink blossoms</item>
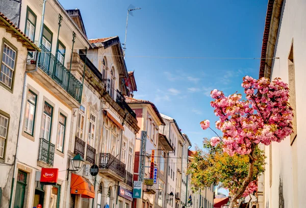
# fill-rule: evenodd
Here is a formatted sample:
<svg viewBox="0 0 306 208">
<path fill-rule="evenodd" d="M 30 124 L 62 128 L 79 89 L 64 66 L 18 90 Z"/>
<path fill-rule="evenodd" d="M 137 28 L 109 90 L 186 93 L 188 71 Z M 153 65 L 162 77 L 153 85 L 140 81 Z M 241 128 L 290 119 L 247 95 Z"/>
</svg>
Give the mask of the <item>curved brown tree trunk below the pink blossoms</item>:
<svg viewBox="0 0 306 208">
<path fill-rule="evenodd" d="M 243 180 L 242 186 L 236 191 L 236 193 L 233 193 L 229 208 L 234 208 L 236 201 L 240 199 L 246 187 L 252 181 L 254 172 L 254 162 L 254 150 L 252 150 L 247 177 Z"/>
</svg>

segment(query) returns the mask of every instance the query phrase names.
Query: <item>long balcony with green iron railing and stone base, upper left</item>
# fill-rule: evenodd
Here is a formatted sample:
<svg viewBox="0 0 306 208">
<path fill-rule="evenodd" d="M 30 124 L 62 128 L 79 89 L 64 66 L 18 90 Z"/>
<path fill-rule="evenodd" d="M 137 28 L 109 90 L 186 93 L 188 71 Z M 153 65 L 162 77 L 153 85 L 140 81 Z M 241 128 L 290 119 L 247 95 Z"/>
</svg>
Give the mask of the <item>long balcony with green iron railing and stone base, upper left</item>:
<svg viewBox="0 0 306 208">
<path fill-rule="evenodd" d="M 79 108 L 82 98 L 82 83 L 43 45 L 40 48 L 39 69 L 35 71 L 35 61 L 30 61 L 30 64 L 27 64 L 27 71 L 32 71 L 32 76 L 70 107 Z"/>
</svg>

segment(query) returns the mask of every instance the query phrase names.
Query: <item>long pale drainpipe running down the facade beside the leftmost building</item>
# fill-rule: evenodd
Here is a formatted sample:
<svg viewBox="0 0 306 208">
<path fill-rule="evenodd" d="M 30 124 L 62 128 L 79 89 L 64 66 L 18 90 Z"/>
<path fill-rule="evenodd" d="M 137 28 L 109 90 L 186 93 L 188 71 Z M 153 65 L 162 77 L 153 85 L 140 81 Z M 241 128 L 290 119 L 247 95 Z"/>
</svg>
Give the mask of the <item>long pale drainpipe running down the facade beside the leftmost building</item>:
<svg viewBox="0 0 306 208">
<path fill-rule="evenodd" d="M 43 7 L 42 7 L 42 16 L 41 16 L 41 27 L 40 27 L 40 35 L 39 35 L 39 42 L 38 42 L 38 47 L 40 46 L 40 43 L 42 41 L 42 32 L 43 32 L 43 21 L 44 21 L 44 13 L 45 13 L 45 6 L 46 6 L 46 2 L 47 0 L 43 0 Z M 9 204 L 9 208 L 12 207 L 12 197 L 13 197 L 13 191 L 14 191 L 14 184 L 15 184 L 15 172 L 16 172 L 16 168 L 17 168 L 17 164 L 16 164 L 16 159 L 17 159 L 17 153 L 18 153 L 18 145 L 19 145 L 19 138 L 20 138 L 20 128 L 21 126 L 21 117 L 22 117 L 22 105 L 23 105 L 23 100 L 24 100 L 24 92 L 25 92 L 25 83 L 27 82 L 27 73 L 31 73 L 34 71 L 37 71 L 37 67 L 38 67 L 38 56 L 39 53 L 36 52 L 36 66 L 34 70 L 31 71 L 25 71 L 24 72 L 24 79 L 23 79 L 23 89 L 22 89 L 22 97 L 21 97 L 21 107 L 20 107 L 20 114 L 19 114 L 19 127 L 18 127 L 18 137 L 17 137 L 17 144 L 16 144 L 16 153 L 15 153 L 15 158 L 14 158 L 14 169 L 13 169 L 13 178 L 12 178 L 12 188 L 11 188 L 11 194 L 10 194 L 10 204 Z M 27 63 L 25 63 L 27 64 Z"/>
</svg>

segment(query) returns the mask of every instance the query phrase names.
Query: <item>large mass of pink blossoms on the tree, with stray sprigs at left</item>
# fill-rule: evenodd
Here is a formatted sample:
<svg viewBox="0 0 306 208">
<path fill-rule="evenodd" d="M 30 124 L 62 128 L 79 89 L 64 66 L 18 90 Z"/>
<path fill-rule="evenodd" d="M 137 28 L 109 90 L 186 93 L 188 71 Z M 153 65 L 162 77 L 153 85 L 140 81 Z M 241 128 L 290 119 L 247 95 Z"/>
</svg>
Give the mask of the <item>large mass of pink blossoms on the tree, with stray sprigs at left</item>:
<svg viewBox="0 0 306 208">
<path fill-rule="evenodd" d="M 226 97 L 222 91 L 211 92 L 211 106 L 219 117 L 216 128 L 223 133 L 223 150 L 230 155 L 248 154 L 259 143 L 281 142 L 293 132 L 286 83 L 279 78 L 270 82 L 245 76 L 242 87 L 246 100 L 237 93 Z M 207 122 L 202 121 L 201 127 L 207 129 Z M 217 140 L 212 139 L 211 144 L 216 145 Z"/>
</svg>

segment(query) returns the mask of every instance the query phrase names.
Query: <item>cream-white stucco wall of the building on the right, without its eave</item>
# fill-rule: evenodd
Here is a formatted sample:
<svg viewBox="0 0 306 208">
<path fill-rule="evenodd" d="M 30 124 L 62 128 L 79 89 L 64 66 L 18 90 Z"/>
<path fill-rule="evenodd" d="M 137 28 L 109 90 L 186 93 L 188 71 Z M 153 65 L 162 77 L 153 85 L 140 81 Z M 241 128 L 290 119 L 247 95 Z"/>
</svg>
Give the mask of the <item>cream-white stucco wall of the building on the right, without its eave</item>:
<svg viewBox="0 0 306 208">
<path fill-rule="evenodd" d="M 296 120 L 297 137 L 290 145 L 290 138 L 281 143 L 272 143 L 272 184 L 270 188 L 269 172 L 269 146 L 265 147 L 266 171 L 264 187 L 265 207 L 278 207 L 284 200 L 284 207 L 304 207 L 306 204 L 305 184 L 306 178 L 306 140 L 303 138 L 306 133 L 304 118 L 306 110 L 303 107 L 306 97 L 306 2 L 302 0 L 284 1 L 283 14 L 279 24 L 279 34 L 275 45 L 275 57 L 272 67 L 272 79 L 281 77 L 288 83 L 288 56 L 293 42 L 293 54 L 295 65 L 295 90 L 296 90 Z M 282 181 L 282 183 L 281 183 Z M 281 186 L 283 185 L 283 187 Z M 283 198 L 283 199 L 282 199 Z M 283 207 L 283 206 L 279 206 Z"/>
</svg>

